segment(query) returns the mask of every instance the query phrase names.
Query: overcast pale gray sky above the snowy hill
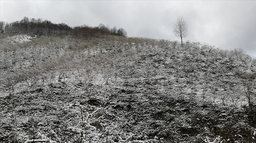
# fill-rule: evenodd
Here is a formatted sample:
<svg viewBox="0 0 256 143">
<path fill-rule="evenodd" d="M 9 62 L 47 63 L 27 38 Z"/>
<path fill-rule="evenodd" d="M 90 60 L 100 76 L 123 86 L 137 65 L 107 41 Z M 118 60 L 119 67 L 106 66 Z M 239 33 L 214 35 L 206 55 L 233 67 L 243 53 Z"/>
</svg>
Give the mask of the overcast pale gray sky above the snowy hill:
<svg viewBox="0 0 256 143">
<path fill-rule="evenodd" d="M 70 26 L 124 28 L 128 37 L 180 40 L 173 34 L 179 16 L 187 21 L 185 41 L 242 48 L 256 57 L 256 1 L 75 1 L 0 0 L 0 20 L 28 18 L 51 20 Z"/>
</svg>

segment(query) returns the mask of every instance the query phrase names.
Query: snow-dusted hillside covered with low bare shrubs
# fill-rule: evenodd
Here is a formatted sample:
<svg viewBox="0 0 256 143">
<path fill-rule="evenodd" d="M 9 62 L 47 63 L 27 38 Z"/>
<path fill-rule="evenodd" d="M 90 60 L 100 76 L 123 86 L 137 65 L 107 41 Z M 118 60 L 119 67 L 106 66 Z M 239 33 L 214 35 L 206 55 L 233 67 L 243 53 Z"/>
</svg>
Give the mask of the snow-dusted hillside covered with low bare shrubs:
<svg viewBox="0 0 256 143">
<path fill-rule="evenodd" d="M 241 50 L 16 37 L 0 39 L 1 143 L 256 142 L 256 60 Z"/>
</svg>

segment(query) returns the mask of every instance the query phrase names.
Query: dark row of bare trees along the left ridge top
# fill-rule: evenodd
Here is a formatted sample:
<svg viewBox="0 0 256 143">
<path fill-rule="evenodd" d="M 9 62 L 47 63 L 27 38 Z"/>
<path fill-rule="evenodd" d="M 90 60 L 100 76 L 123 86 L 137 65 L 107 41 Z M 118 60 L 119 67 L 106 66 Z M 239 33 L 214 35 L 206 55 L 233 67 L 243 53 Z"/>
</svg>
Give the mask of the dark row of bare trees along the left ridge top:
<svg viewBox="0 0 256 143">
<path fill-rule="evenodd" d="M 29 19 L 27 17 L 12 23 L 0 21 L 0 32 L 26 33 L 45 36 L 73 35 L 76 37 L 99 35 L 127 36 L 127 32 L 123 28 L 117 29 L 115 26 L 111 29 L 103 24 L 94 27 L 87 25 L 70 27 L 65 23 L 55 24 L 50 20 Z"/>
</svg>

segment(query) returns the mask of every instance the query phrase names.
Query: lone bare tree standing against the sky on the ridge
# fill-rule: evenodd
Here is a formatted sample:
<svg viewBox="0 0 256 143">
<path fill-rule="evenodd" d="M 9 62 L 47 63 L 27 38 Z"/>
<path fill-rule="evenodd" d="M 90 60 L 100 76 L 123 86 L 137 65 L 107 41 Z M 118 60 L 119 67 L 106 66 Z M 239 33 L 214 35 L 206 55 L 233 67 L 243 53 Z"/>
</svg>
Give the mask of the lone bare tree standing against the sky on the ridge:
<svg viewBox="0 0 256 143">
<path fill-rule="evenodd" d="M 181 39 L 183 37 L 188 36 L 189 31 L 188 31 L 188 24 L 187 22 L 183 19 L 183 17 L 178 17 L 177 19 L 177 23 L 174 26 L 174 30 L 173 30 L 175 36 L 177 37 L 181 37 Z M 183 41 L 182 41 L 182 46 L 183 46 Z"/>
</svg>

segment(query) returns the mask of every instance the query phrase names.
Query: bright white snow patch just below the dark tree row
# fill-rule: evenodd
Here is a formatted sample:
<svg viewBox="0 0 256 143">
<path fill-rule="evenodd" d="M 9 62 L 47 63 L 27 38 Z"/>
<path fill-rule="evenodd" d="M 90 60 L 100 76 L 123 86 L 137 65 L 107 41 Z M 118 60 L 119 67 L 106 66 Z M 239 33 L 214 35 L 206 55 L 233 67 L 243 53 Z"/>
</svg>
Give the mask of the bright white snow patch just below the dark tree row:
<svg viewBox="0 0 256 143">
<path fill-rule="evenodd" d="M 28 36 L 28 35 L 15 35 L 12 37 L 7 37 L 7 40 L 11 43 L 25 43 L 32 41 L 33 39 L 37 38 L 36 35 L 34 36 Z"/>
</svg>

